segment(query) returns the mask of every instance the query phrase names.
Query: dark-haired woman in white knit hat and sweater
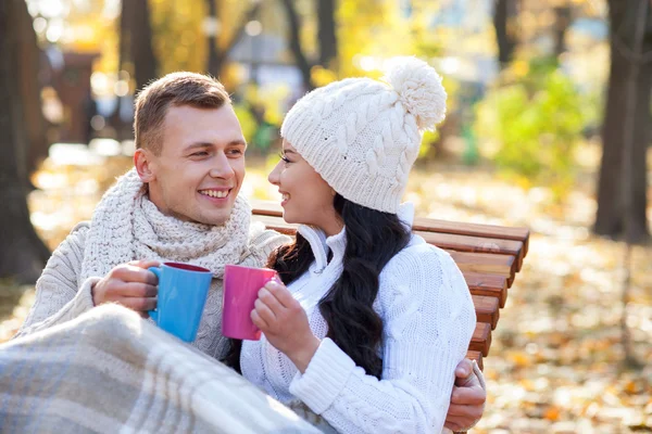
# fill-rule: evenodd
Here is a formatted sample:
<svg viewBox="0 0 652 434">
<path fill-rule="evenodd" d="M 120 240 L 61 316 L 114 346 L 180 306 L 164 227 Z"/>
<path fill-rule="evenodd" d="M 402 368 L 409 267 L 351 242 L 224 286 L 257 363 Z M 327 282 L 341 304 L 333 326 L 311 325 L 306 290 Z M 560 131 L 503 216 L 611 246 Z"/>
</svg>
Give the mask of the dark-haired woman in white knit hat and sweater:
<svg viewBox="0 0 652 434">
<path fill-rule="evenodd" d="M 425 62 L 392 63 L 386 82 L 337 81 L 288 113 L 269 181 L 285 220 L 302 226 L 269 259 L 283 284 L 259 293 L 262 339 L 228 358 L 341 433 L 440 432 L 476 324 L 455 263 L 413 235 L 413 208 L 399 206 L 446 92 Z"/>
</svg>

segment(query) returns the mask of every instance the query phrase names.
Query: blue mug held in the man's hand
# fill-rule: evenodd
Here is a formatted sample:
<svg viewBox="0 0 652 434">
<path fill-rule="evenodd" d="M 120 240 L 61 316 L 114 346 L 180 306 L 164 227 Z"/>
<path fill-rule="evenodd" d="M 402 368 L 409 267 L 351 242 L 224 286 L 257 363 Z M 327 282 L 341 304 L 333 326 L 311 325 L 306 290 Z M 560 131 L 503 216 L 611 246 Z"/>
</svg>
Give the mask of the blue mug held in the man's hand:
<svg viewBox="0 0 652 434">
<path fill-rule="evenodd" d="M 181 341 L 195 341 L 213 273 L 179 263 L 164 263 L 149 270 L 159 278 L 156 308 L 150 310 L 149 316 L 156 326 Z"/>
</svg>

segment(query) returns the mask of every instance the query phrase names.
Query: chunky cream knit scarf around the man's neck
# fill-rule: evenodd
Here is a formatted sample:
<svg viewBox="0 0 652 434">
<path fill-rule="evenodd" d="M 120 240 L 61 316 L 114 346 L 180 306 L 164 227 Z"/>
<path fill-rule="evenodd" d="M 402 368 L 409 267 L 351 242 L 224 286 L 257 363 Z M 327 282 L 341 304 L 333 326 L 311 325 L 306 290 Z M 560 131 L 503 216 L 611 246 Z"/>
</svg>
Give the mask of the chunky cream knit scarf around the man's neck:
<svg viewBox="0 0 652 434">
<path fill-rule="evenodd" d="M 216 279 L 226 264 L 260 265 L 249 246 L 251 207 L 246 199 L 236 199 L 224 225 L 211 226 L 162 214 L 146 191 L 135 169 L 106 191 L 92 215 L 82 281 L 134 259 L 193 264 L 210 269 Z"/>
</svg>

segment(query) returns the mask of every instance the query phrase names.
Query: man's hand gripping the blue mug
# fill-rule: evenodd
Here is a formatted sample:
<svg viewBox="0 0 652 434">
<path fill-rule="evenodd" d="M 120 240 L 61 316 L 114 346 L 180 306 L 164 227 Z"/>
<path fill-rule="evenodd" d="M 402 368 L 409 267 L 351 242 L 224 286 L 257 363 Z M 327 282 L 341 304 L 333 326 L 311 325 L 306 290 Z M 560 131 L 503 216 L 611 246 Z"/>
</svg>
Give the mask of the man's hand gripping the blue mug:
<svg viewBox="0 0 652 434">
<path fill-rule="evenodd" d="M 156 266 L 155 260 L 133 260 L 113 268 L 91 289 L 93 304 L 117 303 L 147 318 L 159 293 L 159 278 L 148 268 Z"/>
</svg>

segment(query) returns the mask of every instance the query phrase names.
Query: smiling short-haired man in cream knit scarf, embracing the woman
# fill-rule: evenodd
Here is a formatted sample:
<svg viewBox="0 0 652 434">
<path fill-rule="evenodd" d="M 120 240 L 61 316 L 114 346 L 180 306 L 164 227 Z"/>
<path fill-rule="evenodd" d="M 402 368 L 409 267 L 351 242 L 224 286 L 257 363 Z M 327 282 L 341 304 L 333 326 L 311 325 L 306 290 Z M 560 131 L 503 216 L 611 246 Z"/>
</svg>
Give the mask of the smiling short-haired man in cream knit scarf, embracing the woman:
<svg viewBox="0 0 652 434">
<path fill-rule="evenodd" d="M 147 316 L 156 304 L 148 267 L 189 261 L 213 271 L 197 340 L 221 359 L 222 277 L 226 264 L 260 267 L 288 238 L 251 226 L 238 192 L 247 143 L 228 93 L 216 80 L 170 74 L 136 99 L 135 168 L 61 243 L 36 286 L 36 302 L 16 337 L 61 324 L 93 306 L 117 303 Z M 447 426 L 479 419 L 484 387 L 468 360 L 459 366 Z M 480 375 L 481 378 L 481 375 Z"/>
</svg>

